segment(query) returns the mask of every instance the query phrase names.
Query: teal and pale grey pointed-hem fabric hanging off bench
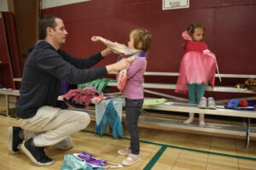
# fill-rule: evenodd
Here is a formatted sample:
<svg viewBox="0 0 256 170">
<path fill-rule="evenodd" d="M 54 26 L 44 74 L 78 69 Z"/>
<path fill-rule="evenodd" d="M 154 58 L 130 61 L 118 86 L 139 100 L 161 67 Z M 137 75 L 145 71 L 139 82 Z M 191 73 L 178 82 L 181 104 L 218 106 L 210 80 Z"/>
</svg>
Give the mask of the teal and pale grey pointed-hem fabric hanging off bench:
<svg viewBox="0 0 256 170">
<path fill-rule="evenodd" d="M 108 121 L 110 127 L 112 127 L 113 138 L 118 139 L 119 136 L 123 138 L 122 107 L 123 99 L 119 98 L 102 100 L 96 104 L 95 133 L 99 133 L 102 136 Z"/>
</svg>

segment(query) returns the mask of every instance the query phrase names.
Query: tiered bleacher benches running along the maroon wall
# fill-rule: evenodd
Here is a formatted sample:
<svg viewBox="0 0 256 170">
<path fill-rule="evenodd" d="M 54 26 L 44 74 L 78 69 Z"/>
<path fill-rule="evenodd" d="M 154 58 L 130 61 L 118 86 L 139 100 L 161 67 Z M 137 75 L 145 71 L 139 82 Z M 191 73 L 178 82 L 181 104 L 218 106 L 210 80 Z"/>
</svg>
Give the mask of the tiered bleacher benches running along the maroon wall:
<svg viewBox="0 0 256 170">
<path fill-rule="evenodd" d="M 113 73 L 115 74 L 115 73 Z M 156 76 L 156 77 L 178 77 L 177 72 L 145 72 L 144 76 Z M 234 74 L 220 74 L 216 75 L 216 77 L 222 78 L 256 78 L 256 75 L 234 75 Z M 20 81 L 21 79 L 15 79 L 16 81 Z M 116 82 L 109 82 L 108 86 L 116 87 Z M 234 84 L 235 85 L 235 84 Z M 197 105 L 188 105 L 188 99 L 183 99 L 177 97 L 175 95 L 170 94 L 163 94 L 152 89 L 166 89 L 166 90 L 174 90 L 176 87 L 175 84 L 171 83 L 150 83 L 150 82 L 143 82 L 144 92 L 148 94 L 155 94 L 159 95 L 161 98 L 168 99 L 168 102 L 173 102 L 171 105 L 143 105 L 143 109 L 148 110 L 155 110 L 155 111 L 174 111 L 174 112 L 195 112 L 195 113 L 203 113 L 207 115 L 215 115 L 215 116 L 236 116 L 236 117 L 243 117 L 247 119 L 247 126 L 234 126 L 222 123 L 210 123 L 207 122 L 207 127 L 198 127 L 198 124 L 192 123 L 190 125 L 184 125 L 182 120 L 174 120 L 171 118 L 164 118 L 164 117 L 155 117 L 155 116 L 140 116 L 139 123 L 143 125 L 153 125 L 159 127 L 172 127 L 172 128 L 181 128 L 181 129 L 188 129 L 188 130 L 195 130 L 195 131 L 203 131 L 209 133 L 224 133 L 224 134 L 234 134 L 240 136 L 246 136 L 246 146 L 248 146 L 249 137 L 253 136 L 256 137 L 256 128 L 250 127 L 250 118 L 256 118 L 256 111 L 236 111 L 236 110 L 228 110 L 224 109 L 224 101 L 227 99 L 216 100 L 217 110 L 209 110 L 209 109 L 199 109 Z M 150 90 L 148 89 L 150 88 Z M 242 88 L 235 88 L 235 87 L 224 87 L 224 86 L 215 86 L 214 88 L 206 87 L 206 91 L 210 92 L 222 92 L 222 93 L 241 93 L 241 94 L 256 94 L 253 90 L 247 90 Z M 15 93 L 2 93 L 5 94 L 6 102 L 7 102 L 7 110 L 9 110 L 9 95 L 19 95 L 18 92 Z M 110 95 L 119 93 L 111 93 Z M 239 99 L 256 99 L 256 96 L 253 97 L 243 97 Z M 90 115 L 94 114 L 94 112 L 90 112 Z M 91 114 L 92 113 L 92 114 Z M 7 111 L 7 115 L 9 112 Z"/>
</svg>

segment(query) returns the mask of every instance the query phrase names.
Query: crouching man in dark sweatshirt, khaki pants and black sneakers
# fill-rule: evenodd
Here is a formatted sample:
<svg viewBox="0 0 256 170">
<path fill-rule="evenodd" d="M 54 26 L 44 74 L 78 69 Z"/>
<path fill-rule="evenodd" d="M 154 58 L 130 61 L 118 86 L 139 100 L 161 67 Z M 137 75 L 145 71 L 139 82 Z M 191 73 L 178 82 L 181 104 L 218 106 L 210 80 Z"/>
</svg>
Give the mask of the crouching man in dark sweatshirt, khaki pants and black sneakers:
<svg viewBox="0 0 256 170">
<path fill-rule="evenodd" d="M 30 49 L 26 59 L 20 98 L 16 102 L 15 114 L 20 118 L 22 128 L 9 127 L 11 153 L 19 152 L 18 147 L 25 138 L 24 130 L 38 134 L 20 145 L 26 156 L 38 166 L 54 162 L 45 156 L 44 147 L 56 145 L 61 149 L 70 149 L 73 145 L 70 135 L 90 123 L 87 113 L 56 107 L 61 81 L 74 84 L 90 82 L 130 66 L 128 60 L 122 59 L 113 65 L 89 69 L 111 54 L 111 49 L 106 48 L 86 59 L 77 59 L 60 49 L 66 38 L 67 31 L 59 16 L 49 14 L 39 21 L 40 40 Z"/>
</svg>

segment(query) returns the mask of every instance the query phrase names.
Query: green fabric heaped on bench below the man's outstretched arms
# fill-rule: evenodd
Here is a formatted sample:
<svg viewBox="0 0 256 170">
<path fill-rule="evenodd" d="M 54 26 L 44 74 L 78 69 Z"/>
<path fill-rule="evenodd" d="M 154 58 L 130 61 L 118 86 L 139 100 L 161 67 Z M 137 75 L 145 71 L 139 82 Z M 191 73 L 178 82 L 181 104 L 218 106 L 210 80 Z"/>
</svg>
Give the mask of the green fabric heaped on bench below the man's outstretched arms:
<svg viewBox="0 0 256 170">
<path fill-rule="evenodd" d="M 85 88 L 86 86 L 91 85 L 97 88 L 98 91 L 102 91 L 103 93 L 108 93 L 111 88 L 108 86 L 108 82 L 116 82 L 116 81 L 112 78 L 96 79 L 91 82 L 85 82 L 83 84 L 79 84 L 78 88 Z"/>
</svg>

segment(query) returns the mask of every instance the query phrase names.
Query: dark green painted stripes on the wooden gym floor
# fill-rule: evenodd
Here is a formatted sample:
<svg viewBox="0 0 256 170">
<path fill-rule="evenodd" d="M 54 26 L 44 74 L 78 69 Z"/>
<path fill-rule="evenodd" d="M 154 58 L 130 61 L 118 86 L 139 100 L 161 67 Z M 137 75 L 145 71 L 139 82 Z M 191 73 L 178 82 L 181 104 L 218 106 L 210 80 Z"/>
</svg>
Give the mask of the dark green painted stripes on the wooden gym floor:
<svg viewBox="0 0 256 170">
<path fill-rule="evenodd" d="M 88 131 L 88 130 L 82 130 L 83 132 L 87 132 L 87 133 L 94 133 L 92 131 Z M 110 134 L 103 134 L 104 136 L 109 136 L 109 137 L 113 137 Z M 131 140 L 130 138 L 127 137 L 123 137 L 123 139 L 127 139 L 127 140 Z M 256 158 L 254 157 L 247 157 L 247 156 L 234 156 L 234 155 L 230 155 L 230 154 L 223 154 L 223 153 L 218 153 L 218 152 L 212 152 L 212 151 L 206 151 L 206 150 L 195 150 L 195 149 L 190 149 L 190 148 L 184 148 L 184 147 L 180 147 L 180 146 L 174 146 L 174 145 L 170 145 L 170 144 L 160 144 L 160 143 L 155 143 L 155 142 L 150 142 L 147 140 L 140 140 L 140 142 L 145 143 L 145 144 L 154 144 L 154 145 L 159 145 L 162 147 L 169 147 L 169 148 L 174 148 L 174 149 L 179 149 L 179 150 L 189 150 L 189 151 L 195 151 L 195 152 L 200 152 L 200 153 L 204 153 L 204 154 L 211 154 L 211 155 L 216 155 L 216 156 L 226 156 L 226 157 L 234 157 L 234 158 L 239 158 L 239 159 L 244 159 L 244 160 L 251 160 L 251 161 L 256 161 Z M 162 149 L 162 148 L 161 148 Z M 160 149 L 160 150 L 161 150 Z M 165 149 L 166 150 L 166 149 Z M 160 152 L 157 152 L 156 155 L 159 154 L 158 156 L 160 157 Z M 155 156 L 156 156 L 155 155 Z M 154 157 L 152 158 L 154 159 Z M 157 159 L 158 160 L 158 159 Z M 156 160 L 156 161 L 157 161 Z M 152 160 L 151 160 L 152 161 Z M 151 162 L 149 161 L 149 162 Z M 155 163 L 155 162 L 154 162 Z M 148 163 L 149 164 L 149 163 Z M 148 165 L 147 165 L 148 166 Z"/>
</svg>

